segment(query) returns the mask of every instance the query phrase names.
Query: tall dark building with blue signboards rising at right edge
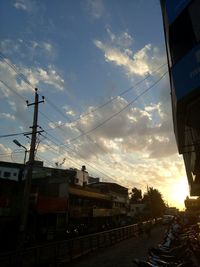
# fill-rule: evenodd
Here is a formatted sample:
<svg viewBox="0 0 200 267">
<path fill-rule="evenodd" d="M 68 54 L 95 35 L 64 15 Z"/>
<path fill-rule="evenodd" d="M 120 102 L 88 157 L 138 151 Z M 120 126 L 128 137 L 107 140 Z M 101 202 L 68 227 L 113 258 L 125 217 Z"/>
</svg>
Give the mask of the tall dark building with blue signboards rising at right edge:
<svg viewBox="0 0 200 267">
<path fill-rule="evenodd" d="M 161 0 L 174 132 L 191 196 L 200 195 L 200 1 Z"/>
</svg>

